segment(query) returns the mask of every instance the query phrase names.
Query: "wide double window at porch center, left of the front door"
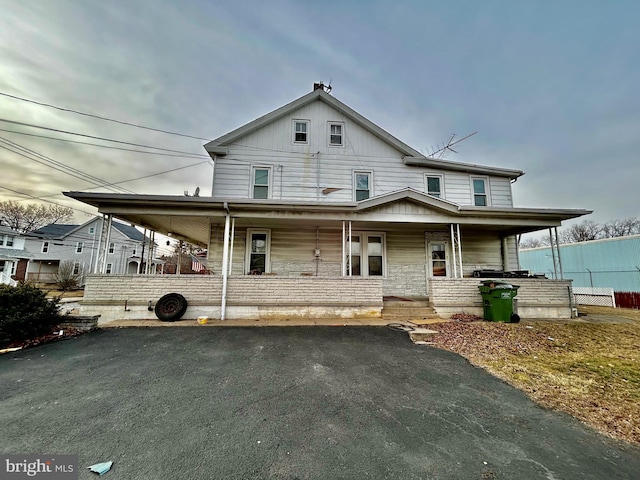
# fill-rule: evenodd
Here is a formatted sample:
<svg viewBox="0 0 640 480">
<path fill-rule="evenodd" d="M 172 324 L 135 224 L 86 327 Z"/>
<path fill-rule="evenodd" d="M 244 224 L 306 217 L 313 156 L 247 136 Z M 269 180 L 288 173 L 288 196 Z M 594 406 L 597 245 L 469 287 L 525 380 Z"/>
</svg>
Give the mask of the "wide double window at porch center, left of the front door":
<svg viewBox="0 0 640 480">
<path fill-rule="evenodd" d="M 357 234 L 351 236 L 351 276 L 377 277 L 385 274 L 384 234 Z M 349 276 L 349 239 L 345 251 Z"/>
</svg>

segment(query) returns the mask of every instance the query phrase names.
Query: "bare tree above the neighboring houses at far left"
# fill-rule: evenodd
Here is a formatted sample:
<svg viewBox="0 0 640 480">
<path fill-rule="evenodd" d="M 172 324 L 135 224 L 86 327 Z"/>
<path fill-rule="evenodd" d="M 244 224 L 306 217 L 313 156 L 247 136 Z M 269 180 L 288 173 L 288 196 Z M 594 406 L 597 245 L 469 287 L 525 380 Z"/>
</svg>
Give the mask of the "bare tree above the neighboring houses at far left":
<svg viewBox="0 0 640 480">
<path fill-rule="evenodd" d="M 62 205 L 0 202 L 0 223 L 19 233 L 37 230 L 50 223 L 71 220 L 73 209 Z"/>
</svg>

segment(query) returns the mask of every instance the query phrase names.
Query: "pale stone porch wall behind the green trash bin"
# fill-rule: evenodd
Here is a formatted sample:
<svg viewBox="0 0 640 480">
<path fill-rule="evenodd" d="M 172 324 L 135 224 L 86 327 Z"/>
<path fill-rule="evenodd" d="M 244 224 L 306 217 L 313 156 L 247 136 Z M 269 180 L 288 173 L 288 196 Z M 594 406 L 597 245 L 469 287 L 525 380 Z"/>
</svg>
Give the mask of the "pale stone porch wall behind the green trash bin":
<svg viewBox="0 0 640 480">
<path fill-rule="evenodd" d="M 500 279 L 519 285 L 516 308 L 521 318 L 571 318 L 571 280 L 537 278 Z M 465 312 L 482 316 L 482 297 L 477 278 L 434 278 L 429 281 L 429 298 L 442 317 Z"/>
</svg>

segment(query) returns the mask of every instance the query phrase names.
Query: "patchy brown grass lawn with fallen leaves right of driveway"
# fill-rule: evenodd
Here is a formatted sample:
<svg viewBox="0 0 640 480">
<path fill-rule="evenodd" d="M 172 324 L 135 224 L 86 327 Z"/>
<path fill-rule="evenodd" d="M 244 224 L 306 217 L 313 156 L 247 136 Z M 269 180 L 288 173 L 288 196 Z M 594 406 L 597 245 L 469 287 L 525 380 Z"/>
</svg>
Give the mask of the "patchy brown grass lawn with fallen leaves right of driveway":
<svg viewBox="0 0 640 480">
<path fill-rule="evenodd" d="M 424 340 L 469 359 L 538 403 L 640 444 L 640 312 L 585 307 L 629 323 L 447 323 Z"/>
</svg>

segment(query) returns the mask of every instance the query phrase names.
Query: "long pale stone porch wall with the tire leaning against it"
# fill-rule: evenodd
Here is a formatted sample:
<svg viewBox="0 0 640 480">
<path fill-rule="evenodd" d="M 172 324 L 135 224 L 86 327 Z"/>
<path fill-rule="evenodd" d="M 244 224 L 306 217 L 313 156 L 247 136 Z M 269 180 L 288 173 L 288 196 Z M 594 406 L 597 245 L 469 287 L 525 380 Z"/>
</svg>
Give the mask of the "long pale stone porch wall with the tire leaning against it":
<svg viewBox="0 0 640 480">
<path fill-rule="evenodd" d="M 90 275 L 80 311 L 114 319 L 155 318 L 153 307 L 167 293 L 189 305 L 184 318 L 220 318 L 218 275 Z M 382 279 L 342 277 L 231 276 L 226 318 L 379 317 Z"/>
</svg>

